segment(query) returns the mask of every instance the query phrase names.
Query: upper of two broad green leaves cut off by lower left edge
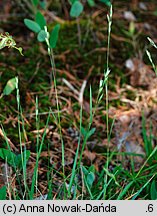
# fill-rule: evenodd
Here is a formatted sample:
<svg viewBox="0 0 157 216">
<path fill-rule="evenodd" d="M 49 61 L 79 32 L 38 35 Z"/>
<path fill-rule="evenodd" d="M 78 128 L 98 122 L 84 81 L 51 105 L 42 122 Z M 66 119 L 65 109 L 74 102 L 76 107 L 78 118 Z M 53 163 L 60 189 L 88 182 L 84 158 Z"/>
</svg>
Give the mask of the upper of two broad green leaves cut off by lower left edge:
<svg viewBox="0 0 157 216">
<path fill-rule="evenodd" d="M 0 149 L 0 158 L 5 160 L 9 165 L 14 166 L 16 155 L 8 149 Z"/>
</svg>

